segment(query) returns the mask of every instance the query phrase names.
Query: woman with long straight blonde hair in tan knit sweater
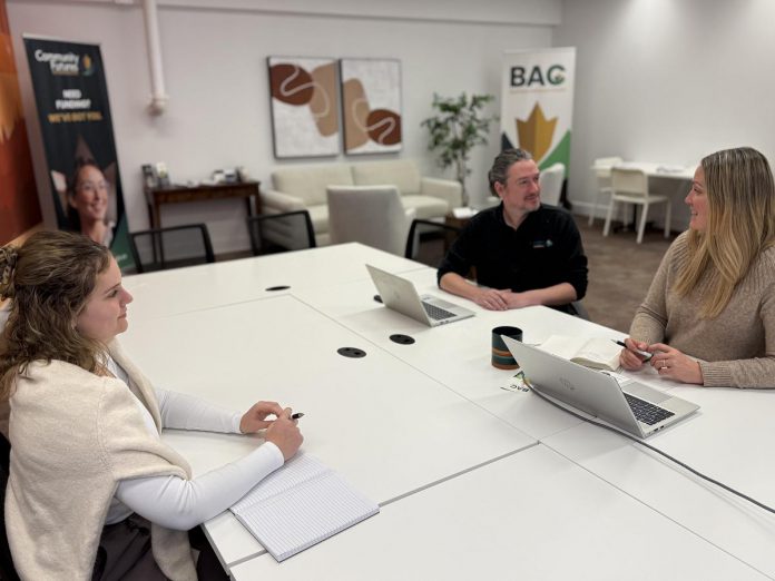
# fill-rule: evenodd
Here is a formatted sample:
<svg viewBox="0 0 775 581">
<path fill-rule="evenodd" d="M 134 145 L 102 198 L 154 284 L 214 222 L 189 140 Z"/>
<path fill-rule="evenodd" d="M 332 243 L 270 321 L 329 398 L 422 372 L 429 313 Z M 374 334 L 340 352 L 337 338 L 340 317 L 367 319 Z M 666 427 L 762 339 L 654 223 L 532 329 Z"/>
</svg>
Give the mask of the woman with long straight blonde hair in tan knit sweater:
<svg viewBox="0 0 775 581">
<path fill-rule="evenodd" d="M 620 361 L 706 386 L 775 387 L 775 185 L 749 147 L 705 157 Z M 699 361 L 697 361 L 699 360 Z"/>
</svg>

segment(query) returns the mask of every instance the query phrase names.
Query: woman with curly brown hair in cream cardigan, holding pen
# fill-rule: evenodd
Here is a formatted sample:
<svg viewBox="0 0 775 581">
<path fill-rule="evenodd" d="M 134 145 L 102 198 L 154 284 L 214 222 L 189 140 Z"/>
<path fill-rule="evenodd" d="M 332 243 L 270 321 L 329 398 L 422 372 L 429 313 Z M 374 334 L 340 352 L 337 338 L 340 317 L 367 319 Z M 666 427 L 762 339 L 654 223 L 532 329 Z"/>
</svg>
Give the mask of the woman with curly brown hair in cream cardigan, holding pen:
<svg viewBox="0 0 775 581">
<path fill-rule="evenodd" d="M 0 403 L 10 402 L 11 457 L 4 509 L 19 575 L 226 579 L 206 543 L 195 564 L 186 531 L 296 453 L 303 439 L 291 410 L 258 402 L 234 413 L 155 388 L 116 341 L 131 303 L 121 273 L 109 250 L 86 236 L 40 232 L 20 248 L 0 248 L 6 297 Z M 159 439 L 163 427 L 265 430 L 265 443 L 192 477 L 188 463 Z"/>
</svg>

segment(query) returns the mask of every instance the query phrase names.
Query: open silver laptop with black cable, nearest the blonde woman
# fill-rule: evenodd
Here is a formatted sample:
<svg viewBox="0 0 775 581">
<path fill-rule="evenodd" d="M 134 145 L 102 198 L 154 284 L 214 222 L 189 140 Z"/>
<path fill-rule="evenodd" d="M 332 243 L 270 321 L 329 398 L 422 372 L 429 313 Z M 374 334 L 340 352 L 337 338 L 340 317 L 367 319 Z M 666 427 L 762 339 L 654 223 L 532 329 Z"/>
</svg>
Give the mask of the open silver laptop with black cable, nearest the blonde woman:
<svg viewBox="0 0 775 581">
<path fill-rule="evenodd" d="M 698 405 L 634 380 L 608 375 L 503 336 L 530 385 L 638 437 L 683 420 Z"/>
</svg>

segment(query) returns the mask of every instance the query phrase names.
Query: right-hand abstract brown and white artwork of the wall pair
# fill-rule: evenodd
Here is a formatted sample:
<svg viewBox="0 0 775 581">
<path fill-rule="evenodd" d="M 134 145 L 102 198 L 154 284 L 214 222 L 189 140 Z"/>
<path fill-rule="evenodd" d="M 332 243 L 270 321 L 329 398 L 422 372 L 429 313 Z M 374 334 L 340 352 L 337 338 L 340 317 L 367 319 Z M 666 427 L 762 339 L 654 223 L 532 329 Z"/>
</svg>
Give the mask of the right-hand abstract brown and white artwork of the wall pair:
<svg viewBox="0 0 775 581">
<path fill-rule="evenodd" d="M 401 61 L 341 59 L 345 154 L 401 150 Z"/>
</svg>

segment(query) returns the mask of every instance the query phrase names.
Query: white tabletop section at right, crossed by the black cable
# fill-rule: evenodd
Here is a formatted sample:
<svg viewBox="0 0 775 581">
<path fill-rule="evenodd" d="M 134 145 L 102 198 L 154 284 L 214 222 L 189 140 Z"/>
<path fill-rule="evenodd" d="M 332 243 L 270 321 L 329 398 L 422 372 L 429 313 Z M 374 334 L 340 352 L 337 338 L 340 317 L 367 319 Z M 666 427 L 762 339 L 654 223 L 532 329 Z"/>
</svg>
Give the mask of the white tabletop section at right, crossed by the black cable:
<svg viewBox="0 0 775 581">
<path fill-rule="evenodd" d="M 704 474 L 775 506 L 775 391 L 681 386 L 698 413 L 647 442 Z M 658 454 L 590 424 L 543 444 L 668 519 L 775 577 L 775 515 Z"/>
</svg>

